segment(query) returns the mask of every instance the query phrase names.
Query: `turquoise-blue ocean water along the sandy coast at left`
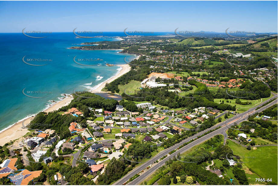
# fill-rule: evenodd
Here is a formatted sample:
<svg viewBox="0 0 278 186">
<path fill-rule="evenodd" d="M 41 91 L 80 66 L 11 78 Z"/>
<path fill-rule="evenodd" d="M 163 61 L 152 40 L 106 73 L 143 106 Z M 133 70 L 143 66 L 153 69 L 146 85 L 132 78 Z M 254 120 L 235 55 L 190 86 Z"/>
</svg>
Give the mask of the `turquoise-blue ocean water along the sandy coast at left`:
<svg viewBox="0 0 278 186">
<path fill-rule="evenodd" d="M 105 36 L 105 34 L 102 34 Z M 119 33 L 106 33 L 107 36 L 121 36 Z M 81 42 L 115 41 L 113 38 L 75 38 L 73 33 L 52 33 L 47 38 L 34 39 L 22 33 L 0 34 L 1 91 L 0 91 L 0 130 L 11 126 L 28 115 L 44 110 L 50 101 L 59 101 L 61 94 L 86 91 L 115 76 L 120 67 L 107 67 L 109 64 L 125 64 L 124 57 L 134 55 L 119 54 L 119 50 L 81 51 L 67 49 Z M 24 57 L 25 56 L 25 57 Z M 100 59 L 81 64 L 73 58 Z M 44 66 L 31 66 L 29 64 Z M 48 61 L 30 61 L 41 59 Z M 28 60 L 28 61 L 27 61 Z M 101 61 L 102 60 L 102 61 Z M 99 65 L 99 66 L 97 66 Z M 25 89 L 24 89 L 25 88 Z M 24 91 L 23 91 L 24 89 Z M 25 96 L 22 91 L 32 97 Z M 30 91 L 33 91 L 30 93 Z M 34 93 L 34 91 L 37 91 Z"/>
</svg>

